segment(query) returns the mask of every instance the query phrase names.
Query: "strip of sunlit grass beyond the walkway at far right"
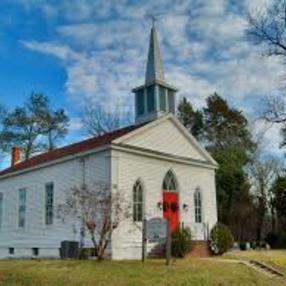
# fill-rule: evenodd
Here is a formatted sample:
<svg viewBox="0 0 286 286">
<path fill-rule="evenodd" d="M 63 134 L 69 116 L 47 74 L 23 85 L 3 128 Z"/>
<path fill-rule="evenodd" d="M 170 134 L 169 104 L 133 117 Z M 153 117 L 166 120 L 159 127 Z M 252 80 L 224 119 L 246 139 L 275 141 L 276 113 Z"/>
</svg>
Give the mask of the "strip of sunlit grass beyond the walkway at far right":
<svg viewBox="0 0 286 286">
<path fill-rule="evenodd" d="M 229 252 L 223 258 L 231 259 L 255 259 L 266 262 L 286 275 L 286 250 L 249 250 Z"/>
</svg>

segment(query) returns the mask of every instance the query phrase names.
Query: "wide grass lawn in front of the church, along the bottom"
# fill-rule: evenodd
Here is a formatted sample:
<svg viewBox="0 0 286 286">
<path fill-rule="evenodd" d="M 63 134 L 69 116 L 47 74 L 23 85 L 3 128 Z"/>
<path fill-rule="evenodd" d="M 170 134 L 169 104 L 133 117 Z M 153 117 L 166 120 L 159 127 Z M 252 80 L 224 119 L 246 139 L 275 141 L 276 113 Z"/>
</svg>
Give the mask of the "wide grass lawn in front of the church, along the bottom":
<svg viewBox="0 0 286 286">
<path fill-rule="evenodd" d="M 279 284 L 280 283 L 280 284 Z M 237 263 L 216 259 L 140 261 L 0 261 L 1 286 L 282 285 Z"/>
</svg>

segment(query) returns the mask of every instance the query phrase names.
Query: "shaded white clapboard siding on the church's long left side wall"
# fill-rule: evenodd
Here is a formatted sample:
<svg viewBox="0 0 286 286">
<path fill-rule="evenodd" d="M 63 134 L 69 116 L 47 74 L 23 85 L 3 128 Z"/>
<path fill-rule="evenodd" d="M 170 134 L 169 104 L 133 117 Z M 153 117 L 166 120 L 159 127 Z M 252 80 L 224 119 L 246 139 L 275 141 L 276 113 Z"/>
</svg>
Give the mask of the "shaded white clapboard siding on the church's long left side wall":
<svg viewBox="0 0 286 286">
<path fill-rule="evenodd" d="M 85 157 L 85 179 L 88 185 L 109 182 L 109 153 L 106 151 Z M 54 256 L 55 251 L 58 253 L 61 241 L 79 240 L 79 224 L 71 219 L 63 221 L 57 218 L 56 208 L 64 202 L 66 193 L 72 187 L 82 184 L 83 177 L 82 160 L 73 159 L 0 180 L 0 192 L 4 196 L 0 257 L 1 254 L 7 256 L 9 247 L 15 248 L 15 257 L 27 253 L 31 255 L 31 248 L 34 247 L 40 248 L 40 255 L 47 255 L 50 249 L 51 256 Z M 54 183 L 52 225 L 45 225 L 45 184 L 48 182 Z M 18 227 L 20 188 L 26 189 L 26 225 L 23 229 Z"/>
</svg>

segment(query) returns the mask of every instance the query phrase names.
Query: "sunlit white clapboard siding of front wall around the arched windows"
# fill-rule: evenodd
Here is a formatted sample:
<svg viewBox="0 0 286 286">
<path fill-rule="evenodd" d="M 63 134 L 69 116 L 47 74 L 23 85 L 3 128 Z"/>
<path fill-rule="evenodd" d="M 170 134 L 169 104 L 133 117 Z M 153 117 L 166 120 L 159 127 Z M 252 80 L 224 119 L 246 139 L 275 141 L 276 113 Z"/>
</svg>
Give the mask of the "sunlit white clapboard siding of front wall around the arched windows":
<svg viewBox="0 0 286 286">
<path fill-rule="evenodd" d="M 162 217 L 162 210 L 157 203 L 162 202 L 162 183 L 168 170 L 172 170 L 177 178 L 180 222 L 190 227 L 194 239 L 205 239 L 203 224 L 195 223 L 194 192 L 200 187 L 202 192 L 203 222 L 209 228 L 217 221 L 216 192 L 214 170 L 182 163 L 171 163 L 166 160 L 129 154 L 121 151 L 113 152 L 113 161 L 116 162 L 117 175 L 113 176 L 113 183 L 118 190 L 124 193 L 132 205 L 132 189 L 137 179 L 144 185 L 145 210 L 147 218 Z M 115 159 L 116 158 L 116 159 Z M 113 168 L 115 169 L 115 167 Z M 189 205 L 189 210 L 183 210 L 183 204 Z M 126 259 L 141 257 L 142 232 L 141 224 L 132 222 L 130 218 L 120 225 L 112 237 L 112 257 Z"/>
</svg>

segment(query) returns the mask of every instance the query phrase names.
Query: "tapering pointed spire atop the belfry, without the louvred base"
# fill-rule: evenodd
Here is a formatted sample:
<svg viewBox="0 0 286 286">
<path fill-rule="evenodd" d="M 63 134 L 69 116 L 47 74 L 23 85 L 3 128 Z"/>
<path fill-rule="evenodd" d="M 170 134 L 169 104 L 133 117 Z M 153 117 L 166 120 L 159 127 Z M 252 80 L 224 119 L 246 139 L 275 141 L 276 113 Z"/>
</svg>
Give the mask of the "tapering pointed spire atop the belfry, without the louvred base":
<svg viewBox="0 0 286 286">
<path fill-rule="evenodd" d="M 161 61 L 161 53 L 155 26 L 155 18 L 153 18 L 153 25 L 150 34 L 150 44 L 148 51 L 145 82 L 146 84 L 154 81 L 163 82 L 164 79 L 165 79 L 164 70 Z"/>
</svg>

